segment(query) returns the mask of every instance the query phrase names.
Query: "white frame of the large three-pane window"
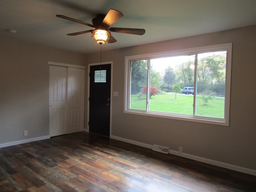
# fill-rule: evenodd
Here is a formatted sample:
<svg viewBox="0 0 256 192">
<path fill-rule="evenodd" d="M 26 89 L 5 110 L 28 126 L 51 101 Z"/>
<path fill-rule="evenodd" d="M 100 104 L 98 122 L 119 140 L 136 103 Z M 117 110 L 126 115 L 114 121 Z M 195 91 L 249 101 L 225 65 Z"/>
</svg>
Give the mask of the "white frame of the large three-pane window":
<svg viewBox="0 0 256 192">
<path fill-rule="evenodd" d="M 147 86 L 148 86 L 149 81 L 150 81 L 150 78 L 149 78 L 150 59 L 172 57 L 172 56 L 184 56 L 184 55 L 192 55 L 192 54 L 197 55 L 197 54 L 201 54 L 201 53 L 217 52 L 217 51 L 227 51 L 224 118 L 213 118 L 213 117 L 205 117 L 205 116 L 194 116 L 194 115 L 186 115 L 186 114 L 175 114 L 175 113 L 168 113 L 168 112 L 150 111 L 150 110 L 148 110 L 148 100 L 149 100 L 148 94 L 147 94 L 147 101 L 146 101 L 146 106 L 147 106 L 146 110 L 130 109 L 130 81 L 131 81 L 130 62 L 131 61 L 148 60 L 148 65 L 147 65 L 147 74 L 148 74 Z M 197 57 L 196 57 L 196 59 L 197 59 Z M 197 63 L 197 60 L 196 60 L 196 63 Z M 173 50 L 173 51 L 168 51 L 168 52 L 158 52 L 158 53 L 151 53 L 151 54 L 126 56 L 125 57 L 125 68 L 124 68 L 124 113 L 229 126 L 231 67 L 232 67 L 232 43 L 217 44 L 217 45 L 211 45 L 211 46 L 202 46 L 202 47 L 188 48 L 188 49 L 182 49 L 182 50 Z M 196 83 L 196 80 L 197 80 L 196 70 L 197 70 L 197 66 L 195 66 L 195 70 L 194 70 L 194 73 L 195 73 L 194 74 L 194 77 L 195 77 L 194 83 Z M 193 110 L 195 110 L 194 104 L 195 104 L 195 100 L 196 100 L 196 94 L 194 94 L 193 97 L 194 97 Z"/>
</svg>

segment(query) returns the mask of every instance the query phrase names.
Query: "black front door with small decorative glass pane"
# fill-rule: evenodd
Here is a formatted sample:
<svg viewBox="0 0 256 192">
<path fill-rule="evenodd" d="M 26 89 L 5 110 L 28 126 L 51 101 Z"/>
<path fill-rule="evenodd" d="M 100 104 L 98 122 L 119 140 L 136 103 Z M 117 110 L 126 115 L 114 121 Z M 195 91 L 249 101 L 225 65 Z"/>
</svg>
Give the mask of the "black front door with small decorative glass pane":
<svg viewBox="0 0 256 192">
<path fill-rule="evenodd" d="M 89 131 L 110 136 L 111 64 L 90 66 Z"/>
</svg>

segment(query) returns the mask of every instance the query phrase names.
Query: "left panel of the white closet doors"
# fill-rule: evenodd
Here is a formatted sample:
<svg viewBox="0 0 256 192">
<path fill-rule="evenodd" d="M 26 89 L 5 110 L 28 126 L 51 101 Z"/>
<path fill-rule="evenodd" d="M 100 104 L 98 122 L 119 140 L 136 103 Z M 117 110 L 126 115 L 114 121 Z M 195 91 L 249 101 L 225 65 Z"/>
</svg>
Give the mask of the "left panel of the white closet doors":
<svg viewBox="0 0 256 192">
<path fill-rule="evenodd" d="M 49 120 L 50 136 L 66 134 L 67 68 L 50 65 Z"/>
</svg>

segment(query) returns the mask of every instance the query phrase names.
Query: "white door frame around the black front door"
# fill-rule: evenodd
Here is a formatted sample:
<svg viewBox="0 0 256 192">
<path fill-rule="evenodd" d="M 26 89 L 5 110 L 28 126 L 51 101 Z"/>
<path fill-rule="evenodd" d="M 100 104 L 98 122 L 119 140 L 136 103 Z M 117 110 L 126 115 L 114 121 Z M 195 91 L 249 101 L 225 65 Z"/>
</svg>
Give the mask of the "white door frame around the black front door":
<svg viewBox="0 0 256 192">
<path fill-rule="evenodd" d="M 104 64 L 110 64 L 111 65 L 111 83 L 110 83 L 110 120 L 109 120 L 109 136 L 112 136 L 112 88 L 113 88 L 113 61 L 108 61 L 108 62 L 101 62 L 101 63 L 90 63 L 88 64 L 88 90 L 87 90 L 87 129 L 84 130 L 86 132 L 90 132 L 90 126 L 89 126 L 89 120 L 90 120 L 90 102 L 89 102 L 89 97 L 90 97 L 90 66 L 94 65 L 104 65 Z"/>
</svg>

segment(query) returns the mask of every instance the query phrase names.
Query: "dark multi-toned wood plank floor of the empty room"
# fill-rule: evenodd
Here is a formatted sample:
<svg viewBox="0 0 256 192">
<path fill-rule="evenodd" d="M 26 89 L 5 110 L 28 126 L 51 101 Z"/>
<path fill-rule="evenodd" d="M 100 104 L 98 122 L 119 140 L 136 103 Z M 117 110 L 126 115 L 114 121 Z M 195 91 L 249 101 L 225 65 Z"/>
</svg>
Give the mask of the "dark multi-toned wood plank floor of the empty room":
<svg viewBox="0 0 256 192">
<path fill-rule="evenodd" d="M 256 192 L 256 176 L 86 132 L 0 148 L 0 192 Z"/>
</svg>

